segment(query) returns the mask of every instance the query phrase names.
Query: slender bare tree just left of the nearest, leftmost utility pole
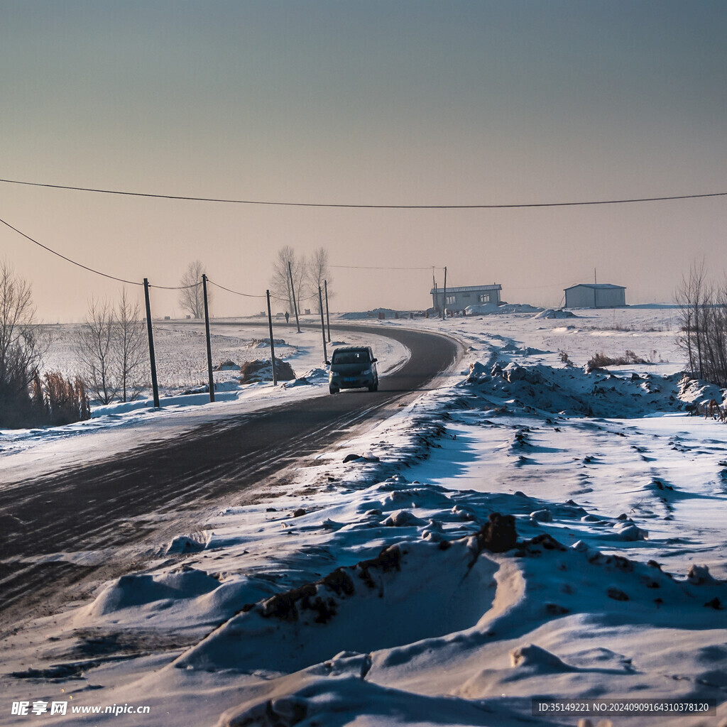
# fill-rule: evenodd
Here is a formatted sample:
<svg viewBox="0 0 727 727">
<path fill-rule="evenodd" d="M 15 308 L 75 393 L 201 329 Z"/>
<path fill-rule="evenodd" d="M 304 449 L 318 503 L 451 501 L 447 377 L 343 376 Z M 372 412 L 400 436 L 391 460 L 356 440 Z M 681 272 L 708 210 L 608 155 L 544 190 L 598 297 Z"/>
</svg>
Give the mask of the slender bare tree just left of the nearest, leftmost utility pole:
<svg viewBox="0 0 727 727">
<path fill-rule="evenodd" d="M 115 318 L 112 358 L 119 382 L 119 395 L 121 401 L 134 401 L 141 391 L 139 374 L 148 361 L 148 356 L 139 302 L 129 300 L 126 287 L 121 289 L 119 310 Z"/>
</svg>

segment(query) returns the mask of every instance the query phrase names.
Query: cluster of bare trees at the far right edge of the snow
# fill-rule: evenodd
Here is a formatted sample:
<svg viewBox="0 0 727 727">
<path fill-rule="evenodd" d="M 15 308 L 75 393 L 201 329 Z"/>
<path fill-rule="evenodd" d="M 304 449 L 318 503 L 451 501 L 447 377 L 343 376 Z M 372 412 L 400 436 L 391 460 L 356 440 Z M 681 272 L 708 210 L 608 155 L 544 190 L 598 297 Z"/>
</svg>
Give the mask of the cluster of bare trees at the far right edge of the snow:
<svg viewBox="0 0 727 727">
<path fill-rule="evenodd" d="M 704 262 L 692 265 L 676 292 L 678 345 L 691 376 L 727 387 L 727 281 L 707 278 Z"/>
</svg>

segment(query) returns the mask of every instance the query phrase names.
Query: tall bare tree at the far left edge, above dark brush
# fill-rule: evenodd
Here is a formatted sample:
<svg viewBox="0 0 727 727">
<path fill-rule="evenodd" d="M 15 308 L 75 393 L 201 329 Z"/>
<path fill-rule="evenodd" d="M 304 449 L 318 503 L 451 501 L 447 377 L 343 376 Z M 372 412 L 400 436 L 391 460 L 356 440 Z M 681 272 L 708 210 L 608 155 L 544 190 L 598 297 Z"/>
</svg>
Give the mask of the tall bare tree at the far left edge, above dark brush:
<svg viewBox="0 0 727 727">
<path fill-rule="evenodd" d="M 31 409 L 28 387 L 44 353 L 34 319 L 31 285 L 0 261 L 0 425 L 22 426 Z"/>
</svg>

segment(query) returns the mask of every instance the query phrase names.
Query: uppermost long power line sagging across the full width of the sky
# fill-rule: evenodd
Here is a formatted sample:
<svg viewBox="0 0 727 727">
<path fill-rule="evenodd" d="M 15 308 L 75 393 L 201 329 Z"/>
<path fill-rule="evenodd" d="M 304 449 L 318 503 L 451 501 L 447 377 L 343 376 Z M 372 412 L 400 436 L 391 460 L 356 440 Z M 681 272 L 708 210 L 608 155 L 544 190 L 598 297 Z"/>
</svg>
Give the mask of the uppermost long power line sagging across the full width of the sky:
<svg viewBox="0 0 727 727">
<path fill-rule="evenodd" d="M 148 192 L 126 192 L 112 189 L 96 189 L 91 187 L 73 187 L 71 185 L 47 184 L 44 182 L 23 182 L 21 180 L 0 180 L 5 184 L 26 185 L 29 187 L 45 187 L 50 189 L 68 189 L 77 192 L 95 192 L 98 194 L 116 194 L 127 197 L 150 197 L 156 199 L 177 199 L 193 202 L 220 202 L 222 204 L 257 204 L 284 207 L 329 207 L 346 209 L 522 209 L 527 207 L 574 207 L 593 206 L 599 204 L 633 204 L 636 202 L 663 202 L 677 199 L 704 199 L 708 197 L 724 197 L 727 192 L 711 192 L 705 194 L 679 194 L 664 197 L 634 197 L 621 199 L 598 199 L 570 202 L 520 202 L 516 204 L 334 204 L 332 202 L 286 202 L 259 199 L 227 199 L 220 197 L 192 197 L 174 194 L 153 194 Z"/>
</svg>

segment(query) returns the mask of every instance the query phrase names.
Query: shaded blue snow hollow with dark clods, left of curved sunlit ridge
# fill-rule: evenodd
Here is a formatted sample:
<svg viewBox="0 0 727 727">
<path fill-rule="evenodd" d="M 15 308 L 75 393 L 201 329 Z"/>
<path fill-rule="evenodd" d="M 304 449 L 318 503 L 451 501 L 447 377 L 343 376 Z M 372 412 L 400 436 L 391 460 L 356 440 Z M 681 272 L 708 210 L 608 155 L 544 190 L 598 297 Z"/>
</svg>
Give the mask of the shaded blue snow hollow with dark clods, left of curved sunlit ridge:
<svg viewBox="0 0 727 727">
<path fill-rule="evenodd" d="M 175 666 L 294 672 L 340 651 L 390 648 L 473 626 L 491 606 L 497 564 L 477 557 L 465 539 L 451 547 L 443 542 L 391 545 L 314 583 L 242 606 L 243 613 Z"/>
</svg>

